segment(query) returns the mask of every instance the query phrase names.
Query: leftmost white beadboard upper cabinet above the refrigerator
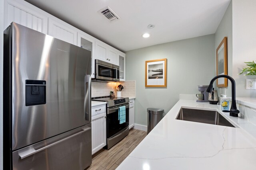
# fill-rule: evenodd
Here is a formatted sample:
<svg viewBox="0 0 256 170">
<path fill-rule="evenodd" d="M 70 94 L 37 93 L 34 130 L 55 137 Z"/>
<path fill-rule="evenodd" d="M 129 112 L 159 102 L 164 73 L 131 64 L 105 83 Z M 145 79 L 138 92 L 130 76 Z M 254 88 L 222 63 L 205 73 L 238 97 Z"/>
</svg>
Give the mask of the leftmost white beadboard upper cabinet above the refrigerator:
<svg viewBox="0 0 256 170">
<path fill-rule="evenodd" d="M 25 1 L 4 1 L 4 29 L 12 22 L 41 33 L 48 33 L 48 16 L 44 11 Z"/>
</svg>

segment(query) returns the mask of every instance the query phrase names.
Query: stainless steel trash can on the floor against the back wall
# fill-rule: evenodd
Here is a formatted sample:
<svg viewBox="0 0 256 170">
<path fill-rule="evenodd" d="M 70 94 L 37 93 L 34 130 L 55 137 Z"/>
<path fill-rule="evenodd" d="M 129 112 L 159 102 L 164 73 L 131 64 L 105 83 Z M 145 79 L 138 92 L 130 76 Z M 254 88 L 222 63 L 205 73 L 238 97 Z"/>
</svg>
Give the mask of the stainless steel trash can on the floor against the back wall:
<svg viewBox="0 0 256 170">
<path fill-rule="evenodd" d="M 164 117 L 164 109 L 148 108 L 148 133 L 157 125 Z"/>
</svg>

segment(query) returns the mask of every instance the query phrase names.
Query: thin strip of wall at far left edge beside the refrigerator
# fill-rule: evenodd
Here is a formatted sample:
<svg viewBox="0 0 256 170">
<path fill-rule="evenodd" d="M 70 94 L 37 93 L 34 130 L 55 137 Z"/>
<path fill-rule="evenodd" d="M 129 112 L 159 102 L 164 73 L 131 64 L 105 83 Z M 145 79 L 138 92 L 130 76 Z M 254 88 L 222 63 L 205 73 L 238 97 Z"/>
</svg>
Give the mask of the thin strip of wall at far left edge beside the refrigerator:
<svg viewBox="0 0 256 170">
<path fill-rule="evenodd" d="M 3 32 L 4 0 L 0 0 L 0 170 L 3 169 Z"/>
</svg>

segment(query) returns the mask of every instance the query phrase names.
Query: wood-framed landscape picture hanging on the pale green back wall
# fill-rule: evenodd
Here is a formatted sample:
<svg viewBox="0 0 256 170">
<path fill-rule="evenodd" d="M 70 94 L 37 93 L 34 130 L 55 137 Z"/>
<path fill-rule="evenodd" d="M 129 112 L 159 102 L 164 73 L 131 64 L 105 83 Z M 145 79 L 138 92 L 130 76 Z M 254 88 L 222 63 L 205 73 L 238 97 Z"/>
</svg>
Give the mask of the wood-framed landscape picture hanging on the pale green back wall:
<svg viewBox="0 0 256 170">
<path fill-rule="evenodd" d="M 167 59 L 145 62 L 145 87 L 167 87 Z"/>
</svg>

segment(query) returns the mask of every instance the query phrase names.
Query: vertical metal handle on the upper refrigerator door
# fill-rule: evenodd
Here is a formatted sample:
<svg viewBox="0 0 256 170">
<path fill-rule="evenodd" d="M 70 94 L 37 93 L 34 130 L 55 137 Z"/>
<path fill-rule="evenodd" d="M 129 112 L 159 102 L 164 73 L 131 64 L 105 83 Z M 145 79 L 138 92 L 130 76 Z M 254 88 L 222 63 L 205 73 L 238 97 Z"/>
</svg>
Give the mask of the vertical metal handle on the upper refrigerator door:
<svg viewBox="0 0 256 170">
<path fill-rule="evenodd" d="M 91 121 L 91 76 L 85 76 L 84 119 Z"/>
</svg>

